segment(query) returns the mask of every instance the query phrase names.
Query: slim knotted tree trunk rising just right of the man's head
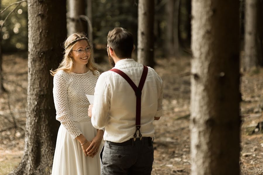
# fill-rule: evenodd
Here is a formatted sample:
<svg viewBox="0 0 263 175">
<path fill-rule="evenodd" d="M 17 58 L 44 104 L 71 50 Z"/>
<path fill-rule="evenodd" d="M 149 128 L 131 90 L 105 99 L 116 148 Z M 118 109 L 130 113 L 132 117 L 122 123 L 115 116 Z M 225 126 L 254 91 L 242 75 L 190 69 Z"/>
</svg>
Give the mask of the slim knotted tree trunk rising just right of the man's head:
<svg viewBox="0 0 263 175">
<path fill-rule="evenodd" d="M 138 62 L 154 67 L 154 1 L 138 1 Z"/>
</svg>

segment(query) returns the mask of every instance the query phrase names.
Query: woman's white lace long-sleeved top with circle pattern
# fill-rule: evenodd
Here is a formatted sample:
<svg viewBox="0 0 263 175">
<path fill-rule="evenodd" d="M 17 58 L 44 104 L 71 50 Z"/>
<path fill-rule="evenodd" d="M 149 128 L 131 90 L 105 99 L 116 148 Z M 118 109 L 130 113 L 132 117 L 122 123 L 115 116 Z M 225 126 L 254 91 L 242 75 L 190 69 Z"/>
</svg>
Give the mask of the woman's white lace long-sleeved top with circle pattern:
<svg viewBox="0 0 263 175">
<path fill-rule="evenodd" d="M 56 120 L 59 120 L 73 138 L 82 134 L 74 121 L 90 121 L 88 116 L 89 101 L 86 94 L 94 95 L 94 88 L 99 78 L 99 72 L 84 74 L 58 71 L 54 76 L 54 104 Z"/>
</svg>

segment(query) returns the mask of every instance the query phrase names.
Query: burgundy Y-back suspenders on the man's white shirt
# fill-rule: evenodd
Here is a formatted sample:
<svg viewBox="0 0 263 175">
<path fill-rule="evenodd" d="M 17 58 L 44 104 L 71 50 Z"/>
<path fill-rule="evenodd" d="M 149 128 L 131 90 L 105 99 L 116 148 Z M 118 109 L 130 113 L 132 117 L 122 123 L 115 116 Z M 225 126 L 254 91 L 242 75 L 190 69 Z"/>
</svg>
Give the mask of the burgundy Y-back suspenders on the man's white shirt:
<svg viewBox="0 0 263 175">
<path fill-rule="evenodd" d="M 140 79 L 140 83 L 139 86 L 137 87 L 133 81 L 130 79 L 130 77 L 128 77 L 128 75 L 126 75 L 123 71 L 119 70 L 119 69 L 111 69 L 110 71 L 114 71 L 117 74 L 119 74 L 120 76 L 122 76 L 129 84 L 130 86 L 133 88 L 135 95 L 136 95 L 136 131 L 135 134 L 133 135 L 134 138 L 137 137 L 137 131 L 139 131 L 139 136 L 142 137 L 142 134 L 140 132 L 140 127 L 141 127 L 141 97 L 142 97 L 142 88 L 143 85 L 145 83 L 145 79 L 147 77 L 147 73 L 148 73 L 148 67 L 147 66 L 143 66 L 143 71 L 142 71 L 142 77 Z"/>
</svg>

